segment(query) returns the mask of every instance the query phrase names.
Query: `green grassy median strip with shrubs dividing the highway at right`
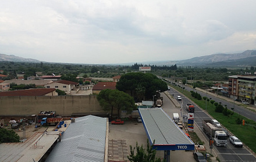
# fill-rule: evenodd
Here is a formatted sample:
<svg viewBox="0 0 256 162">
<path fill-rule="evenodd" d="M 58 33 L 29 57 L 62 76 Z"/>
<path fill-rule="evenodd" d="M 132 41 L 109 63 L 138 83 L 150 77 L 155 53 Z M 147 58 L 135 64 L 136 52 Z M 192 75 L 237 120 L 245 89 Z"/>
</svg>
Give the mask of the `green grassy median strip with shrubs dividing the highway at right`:
<svg viewBox="0 0 256 162">
<path fill-rule="evenodd" d="M 206 104 L 205 100 L 197 100 L 191 96 L 189 91 L 185 91 L 177 86 L 172 86 L 174 89 L 180 91 L 180 93 L 186 95 L 190 100 L 195 102 L 198 106 L 205 110 Z M 204 96 L 202 96 L 204 97 Z M 227 128 L 232 134 L 234 134 L 237 138 L 239 138 L 245 145 L 247 145 L 253 152 L 256 153 L 256 122 L 250 119 L 247 119 L 244 116 L 239 115 L 238 113 L 234 112 L 232 116 L 224 116 L 223 113 L 215 112 L 215 106 L 211 104 L 211 102 L 207 103 L 207 112 L 209 115 L 214 117 L 218 120 L 224 127 Z M 246 125 L 243 126 L 242 124 L 237 124 L 237 118 L 244 119 L 246 121 Z"/>
</svg>

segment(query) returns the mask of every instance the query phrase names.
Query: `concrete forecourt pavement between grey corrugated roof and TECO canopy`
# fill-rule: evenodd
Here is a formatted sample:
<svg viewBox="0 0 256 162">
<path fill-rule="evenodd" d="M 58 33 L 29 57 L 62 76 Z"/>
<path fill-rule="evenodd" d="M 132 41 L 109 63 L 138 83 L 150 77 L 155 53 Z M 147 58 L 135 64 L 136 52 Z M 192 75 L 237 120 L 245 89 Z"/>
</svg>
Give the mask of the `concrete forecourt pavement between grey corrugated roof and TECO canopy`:
<svg viewBox="0 0 256 162">
<path fill-rule="evenodd" d="M 117 143 L 119 145 L 113 148 L 116 148 L 116 150 L 112 150 L 112 147 L 109 149 L 109 154 L 111 156 L 109 157 L 109 160 L 113 161 L 125 161 L 127 160 L 126 153 L 121 152 L 121 150 L 126 149 L 125 146 L 120 149 L 120 145 L 124 145 L 124 142 L 126 142 L 127 147 L 127 154 L 130 154 L 130 145 L 136 146 L 136 142 L 138 142 L 138 145 L 143 145 L 144 148 L 147 147 L 147 134 L 144 130 L 143 124 L 138 123 L 136 119 L 134 120 L 126 120 L 125 124 L 123 125 L 109 125 L 109 143 L 112 143 L 113 141 L 122 141 L 122 143 Z M 109 145 L 111 146 L 111 145 Z M 116 151 L 116 152 L 115 152 Z M 123 156 L 123 157 L 122 157 Z M 163 158 L 164 152 L 162 150 L 157 151 L 157 157 Z M 178 151 L 172 151 L 170 152 L 170 161 L 177 162 L 177 161 L 195 161 L 193 158 L 193 152 L 192 151 L 184 151 L 184 150 L 178 150 Z"/>
</svg>

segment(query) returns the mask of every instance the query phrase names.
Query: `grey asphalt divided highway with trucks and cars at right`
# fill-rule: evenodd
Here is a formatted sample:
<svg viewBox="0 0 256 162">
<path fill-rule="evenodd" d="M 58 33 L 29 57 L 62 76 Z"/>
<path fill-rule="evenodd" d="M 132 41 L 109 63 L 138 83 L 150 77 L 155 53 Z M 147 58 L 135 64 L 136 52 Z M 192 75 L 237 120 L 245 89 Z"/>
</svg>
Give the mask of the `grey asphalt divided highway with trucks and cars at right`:
<svg viewBox="0 0 256 162">
<path fill-rule="evenodd" d="M 190 91 L 189 87 L 186 87 L 186 90 Z M 177 92 L 174 89 L 170 89 L 168 92 L 171 95 L 173 95 L 174 98 L 176 98 L 177 95 L 180 95 L 182 97 L 182 101 L 179 101 L 179 102 L 182 105 L 183 114 L 186 113 L 185 105 L 191 103 L 191 101 L 188 98 L 186 98 L 186 96 L 184 96 L 183 94 L 180 94 L 179 92 Z M 197 93 L 200 93 L 202 96 L 206 96 L 206 94 L 202 93 L 201 91 L 197 91 Z M 210 96 L 211 95 L 209 95 L 208 98 Z M 224 104 L 224 105 L 229 104 L 229 102 L 221 100 L 220 98 L 216 98 L 214 96 L 211 96 L 211 98 L 212 98 L 212 100 L 215 100 L 217 102 L 222 102 L 222 104 Z M 235 109 L 237 109 L 237 111 L 243 110 L 243 108 L 239 108 L 239 106 L 236 106 Z M 243 113 L 243 114 L 245 116 L 247 113 Z M 241 115 L 243 115 L 243 114 L 241 112 Z M 201 131 L 202 131 L 202 120 L 203 119 L 211 119 L 211 117 L 209 117 L 207 113 L 205 113 L 204 111 L 202 111 L 202 109 L 198 108 L 198 106 L 195 105 L 194 122 L 201 129 Z M 207 135 L 205 135 L 205 137 L 207 137 Z M 207 138 L 209 138 L 209 137 L 207 137 Z M 206 145 L 207 144 L 208 143 L 206 143 Z M 234 148 L 234 146 L 230 142 L 228 142 L 227 148 L 219 148 L 219 147 L 214 146 L 214 149 L 216 150 L 216 153 L 218 153 L 218 157 L 221 161 L 247 161 L 247 162 L 255 162 L 256 161 L 256 157 L 253 154 L 251 154 L 246 148 Z"/>
</svg>

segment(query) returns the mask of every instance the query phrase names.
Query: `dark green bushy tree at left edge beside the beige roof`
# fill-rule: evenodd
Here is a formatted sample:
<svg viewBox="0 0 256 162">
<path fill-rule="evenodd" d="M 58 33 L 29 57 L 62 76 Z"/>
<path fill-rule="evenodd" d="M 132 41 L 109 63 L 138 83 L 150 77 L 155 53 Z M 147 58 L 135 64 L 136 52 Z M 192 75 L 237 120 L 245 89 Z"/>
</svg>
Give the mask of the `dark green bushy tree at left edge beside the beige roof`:
<svg viewBox="0 0 256 162">
<path fill-rule="evenodd" d="M 12 130 L 0 128 L 0 143 L 20 142 L 20 137 Z"/>
</svg>

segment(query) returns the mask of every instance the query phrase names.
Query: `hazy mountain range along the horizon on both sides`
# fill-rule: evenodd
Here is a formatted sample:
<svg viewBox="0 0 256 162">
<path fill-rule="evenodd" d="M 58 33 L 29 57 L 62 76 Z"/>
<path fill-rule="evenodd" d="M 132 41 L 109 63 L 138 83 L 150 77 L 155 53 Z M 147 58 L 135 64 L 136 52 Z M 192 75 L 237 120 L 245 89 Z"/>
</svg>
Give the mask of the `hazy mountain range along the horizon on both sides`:
<svg viewBox="0 0 256 162">
<path fill-rule="evenodd" d="M 13 62 L 42 62 L 32 58 L 17 57 L 14 55 L 0 54 L 1 61 Z M 130 62 L 121 65 L 133 65 L 136 62 Z M 174 65 L 177 66 L 191 66 L 191 67 L 251 67 L 256 66 L 256 50 L 246 50 L 242 53 L 219 53 L 208 56 L 194 57 L 187 60 L 179 61 L 145 61 L 137 62 L 141 64 L 150 65 Z M 120 64 L 119 64 L 120 65 Z"/>
</svg>

